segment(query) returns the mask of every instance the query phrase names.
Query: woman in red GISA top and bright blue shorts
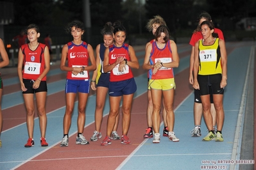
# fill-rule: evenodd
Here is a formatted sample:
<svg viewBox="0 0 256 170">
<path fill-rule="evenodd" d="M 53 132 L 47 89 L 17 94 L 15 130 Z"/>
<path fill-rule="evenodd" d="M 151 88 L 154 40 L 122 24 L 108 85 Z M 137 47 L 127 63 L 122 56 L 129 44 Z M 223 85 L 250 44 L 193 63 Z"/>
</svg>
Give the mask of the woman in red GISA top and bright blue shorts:
<svg viewBox="0 0 256 170">
<path fill-rule="evenodd" d="M 63 120 L 64 136 L 60 146 L 69 145 L 69 128 L 74 110 L 74 102 L 78 93 L 78 134 L 76 144 L 89 144 L 83 136 L 85 126 L 85 107 L 90 89 L 89 71 L 96 69 L 94 50 L 92 46 L 83 42 L 82 36 L 85 32 L 83 22 L 74 20 L 67 25 L 67 33 L 71 33 L 73 41 L 62 48 L 62 60 L 60 69 L 67 72 L 65 84 L 66 109 Z M 89 65 L 89 59 L 91 65 Z M 65 65 L 67 60 L 67 66 Z"/>
</svg>

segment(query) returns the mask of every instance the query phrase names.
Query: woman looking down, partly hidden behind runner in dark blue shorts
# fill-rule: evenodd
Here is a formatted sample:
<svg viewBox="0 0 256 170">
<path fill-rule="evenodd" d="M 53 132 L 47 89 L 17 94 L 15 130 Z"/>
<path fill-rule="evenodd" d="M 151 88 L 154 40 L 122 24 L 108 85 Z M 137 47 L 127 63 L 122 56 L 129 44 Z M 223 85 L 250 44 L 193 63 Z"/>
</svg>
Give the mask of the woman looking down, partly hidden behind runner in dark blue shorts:
<svg viewBox="0 0 256 170">
<path fill-rule="evenodd" d="M 103 72 L 103 63 L 104 63 L 104 53 L 105 49 L 114 43 L 113 37 L 114 27 L 111 22 L 107 22 L 104 28 L 101 30 L 101 35 L 103 35 L 103 42 L 97 45 L 96 47 L 96 65 L 97 68 L 94 70 L 92 75 L 92 81 L 90 87 L 93 90 L 96 90 L 96 108 L 95 108 L 95 130 L 90 141 L 98 141 L 102 137 L 101 135 L 101 123 L 103 119 L 103 108 L 106 102 L 106 96 L 108 93 L 109 86 L 109 76 L 110 73 Z M 111 139 L 117 140 L 121 137 L 117 134 L 117 127 L 119 122 L 119 114 L 115 118 L 115 126 L 112 134 L 110 135 Z"/>
</svg>

